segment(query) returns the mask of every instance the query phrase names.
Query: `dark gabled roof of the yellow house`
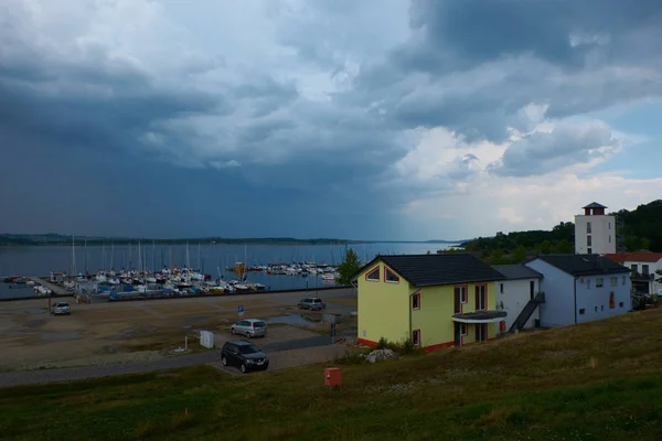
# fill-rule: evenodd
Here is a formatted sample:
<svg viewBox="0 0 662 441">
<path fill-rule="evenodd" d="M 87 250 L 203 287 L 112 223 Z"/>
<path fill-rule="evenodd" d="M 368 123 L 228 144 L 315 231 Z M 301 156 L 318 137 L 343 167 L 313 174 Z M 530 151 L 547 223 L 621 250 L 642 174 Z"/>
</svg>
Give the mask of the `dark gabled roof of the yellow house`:
<svg viewBox="0 0 662 441">
<path fill-rule="evenodd" d="M 470 254 L 377 256 L 352 276 L 352 279 L 380 260 L 416 287 L 504 279 L 501 272 Z"/>
</svg>

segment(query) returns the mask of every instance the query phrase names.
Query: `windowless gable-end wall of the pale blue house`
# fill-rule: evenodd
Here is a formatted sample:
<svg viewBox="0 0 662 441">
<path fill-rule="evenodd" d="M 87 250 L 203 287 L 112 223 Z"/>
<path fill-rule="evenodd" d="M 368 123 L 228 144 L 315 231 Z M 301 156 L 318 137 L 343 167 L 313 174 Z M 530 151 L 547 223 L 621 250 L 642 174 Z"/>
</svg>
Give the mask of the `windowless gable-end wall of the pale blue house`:
<svg viewBox="0 0 662 441">
<path fill-rule="evenodd" d="M 541 291 L 545 303 L 540 306 L 542 326 L 565 326 L 575 323 L 575 278 L 542 259 L 525 263 L 543 275 Z"/>
</svg>

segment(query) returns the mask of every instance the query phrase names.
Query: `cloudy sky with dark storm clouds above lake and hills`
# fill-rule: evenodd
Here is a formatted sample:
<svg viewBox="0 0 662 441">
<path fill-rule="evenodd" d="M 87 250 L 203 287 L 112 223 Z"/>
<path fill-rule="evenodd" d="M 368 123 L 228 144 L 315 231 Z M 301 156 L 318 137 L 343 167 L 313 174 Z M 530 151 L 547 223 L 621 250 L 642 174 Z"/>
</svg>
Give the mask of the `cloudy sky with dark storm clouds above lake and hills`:
<svg viewBox="0 0 662 441">
<path fill-rule="evenodd" d="M 659 0 L 2 0 L 0 233 L 457 239 L 662 197 Z"/>
</svg>

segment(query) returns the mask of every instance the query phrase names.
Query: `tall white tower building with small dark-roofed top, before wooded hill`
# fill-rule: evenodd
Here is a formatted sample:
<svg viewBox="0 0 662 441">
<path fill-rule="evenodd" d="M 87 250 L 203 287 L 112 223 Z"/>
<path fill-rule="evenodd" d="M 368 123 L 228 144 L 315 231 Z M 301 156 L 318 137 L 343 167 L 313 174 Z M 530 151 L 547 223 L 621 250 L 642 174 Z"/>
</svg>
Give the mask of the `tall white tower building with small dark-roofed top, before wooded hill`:
<svg viewBox="0 0 662 441">
<path fill-rule="evenodd" d="M 616 216 L 606 215 L 605 208 L 594 202 L 584 207 L 583 215 L 575 216 L 575 254 L 616 252 Z"/>
</svg>

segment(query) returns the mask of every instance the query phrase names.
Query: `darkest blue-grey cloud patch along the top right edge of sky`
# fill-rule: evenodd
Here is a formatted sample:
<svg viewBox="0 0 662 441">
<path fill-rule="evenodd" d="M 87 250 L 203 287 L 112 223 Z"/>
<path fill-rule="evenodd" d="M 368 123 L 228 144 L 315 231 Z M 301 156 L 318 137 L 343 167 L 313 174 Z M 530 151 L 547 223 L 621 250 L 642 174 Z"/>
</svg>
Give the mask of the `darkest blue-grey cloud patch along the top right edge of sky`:
<svg viewBox="0 0 662 441">
<path fill-rule="evenodd" d="M 579 67 L 600 36 L 655 26 L 660 12 L 656 0 L 414 0 L 410 23 L 425 35 L 420 55 L 460 62 L 450 69 L 517 54 Z"/>
</svg>

